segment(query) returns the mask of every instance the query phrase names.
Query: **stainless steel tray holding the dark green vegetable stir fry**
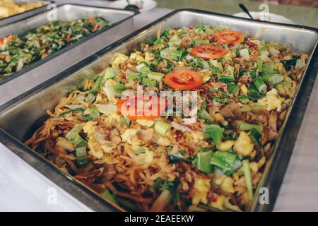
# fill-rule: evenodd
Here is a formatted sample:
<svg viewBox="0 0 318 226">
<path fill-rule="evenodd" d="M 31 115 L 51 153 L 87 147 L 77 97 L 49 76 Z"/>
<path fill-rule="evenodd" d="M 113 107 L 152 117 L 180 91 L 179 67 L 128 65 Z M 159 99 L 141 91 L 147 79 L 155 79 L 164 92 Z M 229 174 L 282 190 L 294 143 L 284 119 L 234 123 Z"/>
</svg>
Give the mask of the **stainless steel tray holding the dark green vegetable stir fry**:
<svg viewBox="0 0 318 226">
<path fill-rule="evenodd" d="M 0 27 L 0 38 L 6 37 L 12 34 L 18 34 L 18 35 L 25 34 L 29 32 L 30 30 L 34 30 L 40 25 L 49 23 L 49 20 L 47 18 L 47 13 L 49 13 L 49 11 L 37 13 L 36 15 L 30 16 L 28 18 L 23 18 L 14 23 Z M 83 37 L 78 42 L 75 42 L 67 47 L 64 47 L 63 49 L 60 49 L 58 52 L 54 52 L 54 54 L 51 54 L 48 57 L 45 57 L 44 59 L 35 61 L 33 64 L 30 64 L 30 66 L 25 67 L 21 71 L 17 73 L 13 73 L 13 75 L 0 80 L 0 85 L 7 83 L 8 81 L 11 81 L 12 79 L 17 78 L 18 76 L 23 75 L 27 71 L 30 71 L 37 66 L 40 66 L 41 64 L 49 61 L 50 59 L 53 59 L 54 57 L 59 56 L 60 54 L 68 51 L 69 49 L 72 49 L 73 47 L 78 46 L 79 44 L 83 42 L 86 42 L 87 40 L 90 40 L 96 35 L 99 35 L 100 33 L 105 32 L 106 30 L 110 30 L 115 25 L 122 23 L 124 20 L 131 18 L 131 16 L 134 16 L 135 14 L 136 13 L 134 11 L 114 9 L 114 8 L 102 8 L 98 6 L 83 6 L 78 4 L 64 4 L 61 6 L 57 6 L 58 20 L 68 21 L 68 20 L 76 20 L 78 18 L 83 18 L 83 17 L 100 16 L 106 20 L 109 20 L 112 24 L 108 26 L 107 28 L 103 28 L 101 30 L 98 30 L 98 32 L 88 35 L 87 37 Z"/>
</svg>

